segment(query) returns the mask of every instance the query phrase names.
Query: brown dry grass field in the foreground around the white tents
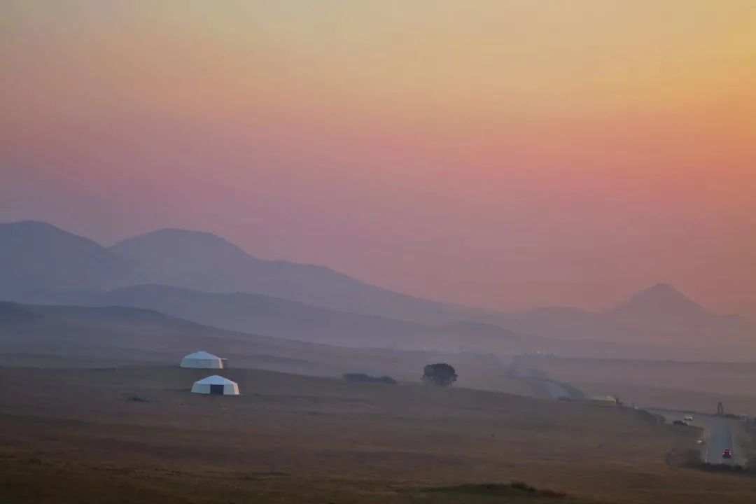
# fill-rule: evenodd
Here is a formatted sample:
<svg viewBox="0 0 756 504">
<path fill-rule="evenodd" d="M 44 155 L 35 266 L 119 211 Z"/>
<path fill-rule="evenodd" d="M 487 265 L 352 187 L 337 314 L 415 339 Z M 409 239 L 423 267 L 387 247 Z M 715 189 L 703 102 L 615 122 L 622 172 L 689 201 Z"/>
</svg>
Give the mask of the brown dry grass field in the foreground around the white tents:
<svg viewBox="0 0 756 504">
<path fill-rule="evenodd" d="M 2 502 L 752 502 L 629 408 L 228 369 L 0 368 Z M 140 397 L 148 402 L 133 400 Z M 560 498 L 508 486 L 524 481 Z M 460 487 L 460 485 L 462 485 Z M 467 486 L 464 486 L 467 485 Z"/>
</svg>

